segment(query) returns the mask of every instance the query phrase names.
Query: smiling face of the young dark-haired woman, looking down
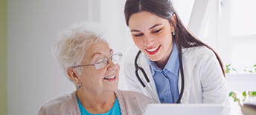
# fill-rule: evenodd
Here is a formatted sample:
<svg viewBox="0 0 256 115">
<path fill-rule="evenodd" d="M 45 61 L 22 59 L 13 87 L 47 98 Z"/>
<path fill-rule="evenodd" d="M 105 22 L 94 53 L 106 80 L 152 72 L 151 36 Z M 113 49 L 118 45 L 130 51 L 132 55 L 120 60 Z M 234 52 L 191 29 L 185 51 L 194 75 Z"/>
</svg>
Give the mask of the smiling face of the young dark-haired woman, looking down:
<svg viewBox="0 0 256 115">
<path fill-rule="evenodd" d="M 135 45 L 154 62 L 167 62 L 173 48 L 173 26 L 167 19 L 147 11 L 132 14 L 129 29 Z"/>
</svg>

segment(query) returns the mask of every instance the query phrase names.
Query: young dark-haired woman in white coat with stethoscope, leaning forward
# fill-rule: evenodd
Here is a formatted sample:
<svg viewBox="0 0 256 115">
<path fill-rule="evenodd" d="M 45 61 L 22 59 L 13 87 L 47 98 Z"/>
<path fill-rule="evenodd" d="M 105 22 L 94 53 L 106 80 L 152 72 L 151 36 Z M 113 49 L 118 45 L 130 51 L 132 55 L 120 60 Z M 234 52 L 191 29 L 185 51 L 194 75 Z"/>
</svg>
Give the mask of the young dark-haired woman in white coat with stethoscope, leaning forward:
<svg viewBox="0 0 256 115">
<path fill-rule="evenodd" d="M 127 0 L 138 49 L 124 62 L 128 88 L 161 103 L 229 105 L 220 57 L 189 31 L 169 0 Z"/>
</svg>

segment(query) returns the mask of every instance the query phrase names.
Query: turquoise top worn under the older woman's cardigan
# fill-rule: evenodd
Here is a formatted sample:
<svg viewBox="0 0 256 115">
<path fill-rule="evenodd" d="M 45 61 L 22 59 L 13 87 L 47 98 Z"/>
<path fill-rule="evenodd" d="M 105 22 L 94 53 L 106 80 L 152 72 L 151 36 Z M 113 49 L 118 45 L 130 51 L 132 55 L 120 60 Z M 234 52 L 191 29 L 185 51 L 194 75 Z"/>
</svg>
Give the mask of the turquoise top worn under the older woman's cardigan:
<svg viewBox="0 0 256 115">
<path fill-rule="evenodd" d="M 115 99 L 115 103 L 114 103 L 113 107 L 109 111 L 107 111 L 106 113 L 103 113 L 103 114 L 91 114 L 88 111 L 86 111 L 86 108 L 83 108 L 83 105 L 81 104 L 78 97 L 77 97 L 77 104 L 79 106 L 81 115 L 121 115 L 118 98 Z"/>
</svg>

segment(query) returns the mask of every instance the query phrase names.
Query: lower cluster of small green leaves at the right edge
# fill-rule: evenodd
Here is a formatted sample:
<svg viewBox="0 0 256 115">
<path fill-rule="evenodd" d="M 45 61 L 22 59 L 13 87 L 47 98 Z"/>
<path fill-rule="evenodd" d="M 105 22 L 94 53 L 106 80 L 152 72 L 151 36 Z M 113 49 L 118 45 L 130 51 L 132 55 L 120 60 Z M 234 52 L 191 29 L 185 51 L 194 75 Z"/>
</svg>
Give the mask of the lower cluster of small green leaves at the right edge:
<svg viewBox="0 0 256 115">
<path fill-rule="evenodd" d="M 242 95 L 243 95 L 243 102 L 245 102 L 248 97 L 253 97 L 253 96 L 256 97 L 256 91 L 243 91 Z M 231 91 L 231 92 L 228 94 L 228 96 L 229 96 L 229 97 L 232 97 L 232 98 L 234 99 L 234 102 L 238 102 L 238 105 L 239 105 L 240 107 L 243 107 L 243 104 L 241 103 L 241 99 L 239 99 L 239 98 L 237 97 L 237 93 Z"/>
</svg>

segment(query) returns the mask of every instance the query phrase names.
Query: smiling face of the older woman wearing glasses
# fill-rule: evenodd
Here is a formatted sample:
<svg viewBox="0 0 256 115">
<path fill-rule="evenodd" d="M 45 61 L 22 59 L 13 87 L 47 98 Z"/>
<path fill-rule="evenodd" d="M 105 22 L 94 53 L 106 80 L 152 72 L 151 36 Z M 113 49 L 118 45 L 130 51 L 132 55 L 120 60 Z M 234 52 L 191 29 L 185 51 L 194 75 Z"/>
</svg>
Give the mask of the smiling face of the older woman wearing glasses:
<svg viewBox="0 0 256 115">
<path fill-rule="evenodd" d="M 109 59 L 113 50 L 106 42 L 99 41 L 92 44 L 83 58 L 82 65 L 94 65 L 100 59 Z M 111 59 L 104 68 L 96 69 L 95 66 L 82 67 L 83 73 L 78 75 L 82 88 L 92 91 L 115 91 L 118 88 L 119 65 L 114 64 Z"/>
</svg>

